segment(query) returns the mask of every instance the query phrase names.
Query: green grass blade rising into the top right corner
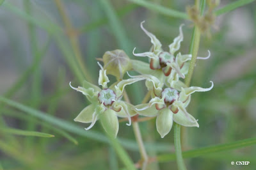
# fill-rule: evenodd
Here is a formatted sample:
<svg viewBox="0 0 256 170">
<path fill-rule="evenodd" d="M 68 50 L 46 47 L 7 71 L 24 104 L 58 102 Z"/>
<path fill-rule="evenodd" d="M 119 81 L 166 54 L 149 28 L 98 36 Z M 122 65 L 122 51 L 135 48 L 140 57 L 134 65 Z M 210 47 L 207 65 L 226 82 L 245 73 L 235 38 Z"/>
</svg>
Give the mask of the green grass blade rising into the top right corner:
<svg viewBox="0 0 256 170">
<path fill-rule="evenodd" d="M 214 13 L 216 15 L 221 15 L 223 13 L 227 13 L 227 12 L 230 12 L 232 10 L 236 10 L 236 8 L 239 8 L 239 7 L 244 6 L 246 4 L 250 4 L 253 1 L 255 1 L 255 0 L 239 0 L 239 1 L 236 1 L 234 3 L 227 4 L 226 6 L 223 6 L 222 8 L 220 8 L 220 10 L 216 10 Z"/>
</svg>

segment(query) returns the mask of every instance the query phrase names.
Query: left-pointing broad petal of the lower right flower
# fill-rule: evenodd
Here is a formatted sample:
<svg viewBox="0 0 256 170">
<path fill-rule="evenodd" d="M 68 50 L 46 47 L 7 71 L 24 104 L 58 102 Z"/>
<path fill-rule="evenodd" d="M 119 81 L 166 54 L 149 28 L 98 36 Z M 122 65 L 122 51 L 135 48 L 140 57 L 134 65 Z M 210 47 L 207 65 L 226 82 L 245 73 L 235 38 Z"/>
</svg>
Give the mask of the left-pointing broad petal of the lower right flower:
<svg viewBox="0 0 256 170">
<path fill-rule="evenodd" d="M 147 117 L 154 117 L 154 116 L 157 116 L 157 109 L 156 109 L 156 104 L 152 105 L 151 107 L 148 107 L 147 109 L 145 110 L 141 110 L 141 111 L 138 111 L 136 109 L 143 109 L 145 107 L 147 107 L 148 104 L 139 104 L 139 105 L 136 105 L 134 106 L 134 111 L 136 111 L 138 114 L 142 115 L 142 116 L 147 116 Z"/>
</svg>

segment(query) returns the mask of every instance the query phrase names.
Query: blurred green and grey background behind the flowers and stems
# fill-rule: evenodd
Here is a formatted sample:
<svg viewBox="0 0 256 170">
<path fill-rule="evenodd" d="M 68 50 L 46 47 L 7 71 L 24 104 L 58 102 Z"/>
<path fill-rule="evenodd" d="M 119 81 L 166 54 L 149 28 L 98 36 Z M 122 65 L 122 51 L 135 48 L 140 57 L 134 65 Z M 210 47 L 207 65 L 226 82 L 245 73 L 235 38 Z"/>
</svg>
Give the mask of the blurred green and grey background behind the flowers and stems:
<svg viewBox="0 0 256 170">
<path fill-rule="evenodd" d="M 180 12 L 193 1 L 147 1 Z M 233 1 L 221 1 L 220 7 Z M 218 8 L 220 8 L 218 7 Z M 74 123 L 88 105 L 81 93 L 68 86 L 81 85 L 85 77 L 97 84 L 101 58 L 107 50 L 147 51 L 150 39 L 140 28 L 154 33 L 164 49 L 183 27 L 180 51 L 188 54 L 193 23 L 163 15 L 131 1 L 4 1 L 0 6 L 0 95 L 81 128 L 80 135 L 62 129 L 26 112 L 0 103 L 1 127 L 52 134 L 55 137 L 14 135 L 0 130 L 0 169 L 121 169 L 124 167 L 106 143 L 100 123 L 85 131 Z M 211 58 L 196 63 L 192 86 L 214 88 L 192 95 L 188 111 L 200 128 L 186 128 L 186 150 L 230 143 L 256 136 L 256 11 L 255 3 L 216 17 L 211 37 L 202 36 L 198 56 Z M 138 58 L 137 58 L 138 59 Z M 140 58 L 141 59 L 141 58 Z M 147 59 L 141 59 L 147 62 Z M 111 76 L 109 76 L 111 77 Z M 111 77 L 114 80 L 114 77 Z M 134 87 L 140 89 L 134 93 Z M 132 104 L 140 104 L 147 93 L 144 82 L 127 88 Z M 156 119 L 140 123 L 148 155 L 174 153 L 173 130 L 161 139 Z M 69 129 L 69 130 L 68 130 Z M 70 132 L 68 132 L 70 131 Z M 80 131 L 79 131 L 80 132 Z M 118 139 L 133 162 L 140 159 L 131 127 L 120 123 Z M 188 169 L 255 169 L 256 147 L 186 158 Z M 248 160 L 249 166 L 232 166 L 231 161 Z M 148 169 L 177 169 L 175 160 L 154 162 Z"/>
</svg>

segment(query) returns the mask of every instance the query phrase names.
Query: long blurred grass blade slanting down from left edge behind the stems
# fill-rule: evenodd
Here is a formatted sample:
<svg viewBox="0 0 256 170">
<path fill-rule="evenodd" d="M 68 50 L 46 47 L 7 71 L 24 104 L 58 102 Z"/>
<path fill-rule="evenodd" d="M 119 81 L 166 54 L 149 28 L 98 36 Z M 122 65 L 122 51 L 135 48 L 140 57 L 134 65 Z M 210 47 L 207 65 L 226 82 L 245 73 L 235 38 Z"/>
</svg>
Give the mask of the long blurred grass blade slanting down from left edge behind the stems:
<svg viewBox="0 0 256 170">
<path fill-rule="evenodd" d="M 82 135 L 84 137 L 88 137 L 90 139 L 94 139 L 97 141 L 100 141 L 102 143 L 109 143 L 108 138 L 100 134 L 99 132 L 95 132 L 93 130 L 86 131 L 84 128 L 79 127 L 77 125 L 74 125 L 74 123 L 70 123 L 65 120 L 61 120 L 59 118 L 54 118 L 53 116 L 46 114 L 45 112 L 37 111 L 35 109 L 32 109 L 31 107 L 27 107 L 26 105 L 19 104 L 17 102 L 13 102 L 12 100 L 8 100 L 7 98 L 0 97 L 0 101 L 4 102 L 5 104 L 8 104 L 16 109 L 19 109 L 20 111 L 24 111 L 27 114 L 30 114 L 31 116 L 35 116 L 37 118 L 40 118 L 40 120 L 47 121 L 48 123 L 55 125 L 57 127 L 63 128 L 67 130 L 68 132 L 72 132 L 77 135 Z M 128 139 L 122 139 L 118 138 L 118 141 L 122 143 L 122 145 L 133 151 L 138 151 L 138 146 L 134 141 L 128 140 Z M 152 150 L 156 151 L 171 151 L 173 150 L 172 147 L 170 147 L 170 144 L 145 144 L 146 148 L 151 148 Z"/>
</svg>

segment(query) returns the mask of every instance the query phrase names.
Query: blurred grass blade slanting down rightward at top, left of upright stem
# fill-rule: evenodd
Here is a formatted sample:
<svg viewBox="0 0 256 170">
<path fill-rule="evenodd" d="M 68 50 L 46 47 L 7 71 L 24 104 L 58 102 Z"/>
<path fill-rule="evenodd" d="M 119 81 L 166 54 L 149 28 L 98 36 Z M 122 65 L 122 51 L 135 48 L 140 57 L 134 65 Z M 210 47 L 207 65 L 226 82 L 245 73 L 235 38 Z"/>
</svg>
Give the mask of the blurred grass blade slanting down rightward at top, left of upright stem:
<svg viewBox="0 0 256 170">
<path fill-rule="evenodd" d="M 160 5 L 155 4 L 155 3 L 149 3 L 148 1 L 145 1 L 145 0 L 144 1 L 142 1 L 142 0 L 129 0 L 129 1 L 131 1 L 132 3 L 136 3 L 140 6 L 143 6 L 143 7 L 147 8 L 148 10 L 152 10 L 152 11 L 161 13 L 163 15 L 167 15 L 167 16 L 175 17 L 175 18 L 179 18 L 179 19 L 186 19 L 186 20 L 189 19 L 188 15 L 184 12 L 179 12 L 177 10 L 172 10 L 170 8 L 166 8 L 164 6 L 160 6 Z"/>
</svg>

